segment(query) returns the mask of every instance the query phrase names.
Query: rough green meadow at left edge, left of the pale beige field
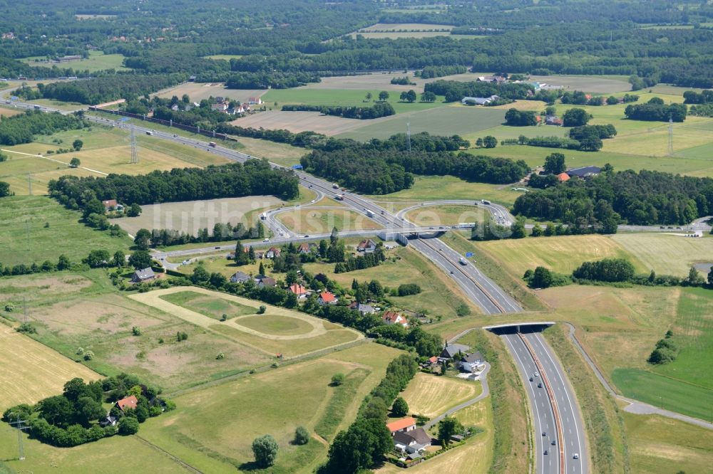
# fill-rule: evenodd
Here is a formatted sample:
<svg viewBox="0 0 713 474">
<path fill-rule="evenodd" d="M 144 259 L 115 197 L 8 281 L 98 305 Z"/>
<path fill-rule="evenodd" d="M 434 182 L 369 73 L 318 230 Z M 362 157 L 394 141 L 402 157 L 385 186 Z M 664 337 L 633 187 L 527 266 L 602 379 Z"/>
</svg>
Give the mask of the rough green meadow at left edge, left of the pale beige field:
<svg viewBox="0 0 713 474">
<path fill-rule="evenodd" d="M 112 237 L 79 223 L 81 214 L 45 196 L 11 196 L 1 200 L 0 262 L 3 265 L 56 263 L 61 254 L 79 262 L 89 251 L 127 251 L 129 238 Z M 51 242 L 51 245 L 48 243 Z"/>
</svg>

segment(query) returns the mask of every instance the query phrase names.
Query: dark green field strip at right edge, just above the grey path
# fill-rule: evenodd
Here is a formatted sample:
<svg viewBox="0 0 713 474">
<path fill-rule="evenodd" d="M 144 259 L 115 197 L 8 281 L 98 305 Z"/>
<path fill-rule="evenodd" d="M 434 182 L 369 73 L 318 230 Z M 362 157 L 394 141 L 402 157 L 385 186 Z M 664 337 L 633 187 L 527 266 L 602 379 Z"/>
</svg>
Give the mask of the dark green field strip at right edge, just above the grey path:
<svg viewBox="0 0 713 474">
<path fill-rule="evenodd" d="M 612 380 L 624 396 L 710 421 L 713 390 L 640 369 L 615 369 Z"/>
</svg>

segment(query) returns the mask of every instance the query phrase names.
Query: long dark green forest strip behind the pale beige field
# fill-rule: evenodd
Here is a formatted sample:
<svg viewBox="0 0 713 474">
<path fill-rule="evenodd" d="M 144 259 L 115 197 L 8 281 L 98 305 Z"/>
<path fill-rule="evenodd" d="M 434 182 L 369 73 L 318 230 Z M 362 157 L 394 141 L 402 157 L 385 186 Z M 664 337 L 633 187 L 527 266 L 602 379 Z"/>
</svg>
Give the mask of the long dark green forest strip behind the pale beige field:
<svg viewBox="0 0 713 474">
<path fill-rule="evenodd" d="M 175 168 L 136 176 L 63 176 L 51 180 L 48 189 L 61 204 L 86 212 L 90 203 L 96 205 L 97 200 L 106 199 L 116 199 L 125 205 L 267 194 L 293 199 L 299 195 L 298 185 L 299 179 L 291 171 L 272 169 L 266 160 L 250 159 L 245 164 Z"/>
</svg>

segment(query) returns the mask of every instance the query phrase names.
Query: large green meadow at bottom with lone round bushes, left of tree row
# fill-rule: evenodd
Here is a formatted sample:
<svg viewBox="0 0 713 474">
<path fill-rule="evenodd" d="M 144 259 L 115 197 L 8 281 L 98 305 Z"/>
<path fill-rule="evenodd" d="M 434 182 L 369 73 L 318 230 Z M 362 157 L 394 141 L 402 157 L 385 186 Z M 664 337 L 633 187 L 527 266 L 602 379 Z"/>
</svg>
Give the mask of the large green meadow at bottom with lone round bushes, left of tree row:
<svg viewBox="0 0 713 474">
<path fill-rule="evenodd" d="M 397 354 L 389 347 L 363 344 L 190 391 L 175 397 L 175 411 L 142 426 L 141 436 L 204 472 L 222 473 L 252 470 L 250 443 L 270 433 L 279 443 L 273 472 L 312 472 L 324 460 L 327 446 L 319 438 L 305 446 L 292 445 L 294 429 L 302 425 L 312 433 L 334 436 L 352 421 L 366 391 Z M 347 381 L 355 379 L 351 391 L 342 394 L 347 384 L 330 386 L 337 372 L 347 375 Z"/>
</svg>

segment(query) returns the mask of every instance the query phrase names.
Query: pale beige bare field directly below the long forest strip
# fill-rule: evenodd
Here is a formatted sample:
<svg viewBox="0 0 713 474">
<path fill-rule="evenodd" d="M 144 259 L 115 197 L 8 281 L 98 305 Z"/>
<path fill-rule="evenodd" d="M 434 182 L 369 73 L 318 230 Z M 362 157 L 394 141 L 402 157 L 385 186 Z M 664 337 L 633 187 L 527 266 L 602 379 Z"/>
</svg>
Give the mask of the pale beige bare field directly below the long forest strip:
<svg viewBox="0 0 713 474">
<path fill-rule="evenodd" d="M 135 235 L 140 228 L 175 229 L 195 235 L 201 228 L 212 231 L 216 223 L 230 222 L 235 226 L 238 222 L 242 222 L 246 227 L 255 226 L 256 214 L 262 209 L 277 207 L 280 204 L 284 204 L 284 201 L 275 196 L 167 202 L 141 206 L 140 216 L 121 217 L 113 219 L 112 222 L 118 223 L 131 235 Z"/>
</svg>

